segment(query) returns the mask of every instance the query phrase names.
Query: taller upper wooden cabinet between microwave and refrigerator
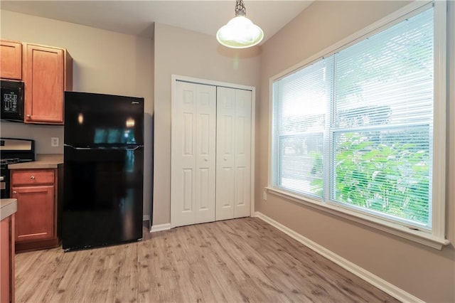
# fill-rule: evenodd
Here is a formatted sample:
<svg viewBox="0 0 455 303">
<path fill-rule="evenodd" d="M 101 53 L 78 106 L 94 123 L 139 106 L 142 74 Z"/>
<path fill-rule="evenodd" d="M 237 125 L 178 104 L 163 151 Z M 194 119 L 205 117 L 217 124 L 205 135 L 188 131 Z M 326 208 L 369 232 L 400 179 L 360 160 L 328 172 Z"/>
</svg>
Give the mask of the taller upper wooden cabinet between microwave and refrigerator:
<svg viewBox="0 0 455 303">
<path fill-rule="evenodd" d="M 24 43 L 26 123 L 63 124 L 63 95 L 73 90 L 73 58 L 64 48 Z"/>
</svg>

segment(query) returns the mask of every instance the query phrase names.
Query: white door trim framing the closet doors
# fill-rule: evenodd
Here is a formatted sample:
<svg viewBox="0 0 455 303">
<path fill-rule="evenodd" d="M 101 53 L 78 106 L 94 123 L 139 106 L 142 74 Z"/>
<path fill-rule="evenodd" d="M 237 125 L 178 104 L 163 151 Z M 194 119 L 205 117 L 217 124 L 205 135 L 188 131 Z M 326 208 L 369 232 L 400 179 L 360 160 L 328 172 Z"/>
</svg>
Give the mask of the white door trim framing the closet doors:
<svg viewBox="0 0 455 303">
<path fill-rule="evenodd" d="M 250 144 L 250 152 L 251 152 L 251 163 L 250 163 L 250 181 L 251 181 L 251 192 L 250 192 L 250 217 L 254 216 L 255 214 L 255 128 L 256 128 L 256 87 L 250 85 L 241 85 L 237 83 L 227 83 L 222 81 L 215 81 L 215 80 L 207 80 L 207 79 L 200 79 L 200 78 L 193 78 L 187 77 L 183 75 L 171 75 L 171 104 L 175 102 L 174 98 L 176 97 L 176 82 L 188 82 L 188 83 L 195 83 L 195 84 L 202 84 L 202 85 L 213 85 L 218 87 L 229 87 L 235 88 L 239 90 L 250 90 L 251 91 L 251 144 Z M 172 107 L 171 107 L 172 112 Z M 171 115 L 171 127 L 172 127 L 172 115 Z M 172 140 L 172 139 L 171 139 Z M 172 154 L 172 149 L 171 149 Z M 172 156 L 171 156 L 172 159 Z M 171 202 L 172 203 L 172 202 Z M 172 207 L 172 206 L 170 206 Z M 171 216 L 171 228 L 176 227 L 172 222 Z"/>
</svg>

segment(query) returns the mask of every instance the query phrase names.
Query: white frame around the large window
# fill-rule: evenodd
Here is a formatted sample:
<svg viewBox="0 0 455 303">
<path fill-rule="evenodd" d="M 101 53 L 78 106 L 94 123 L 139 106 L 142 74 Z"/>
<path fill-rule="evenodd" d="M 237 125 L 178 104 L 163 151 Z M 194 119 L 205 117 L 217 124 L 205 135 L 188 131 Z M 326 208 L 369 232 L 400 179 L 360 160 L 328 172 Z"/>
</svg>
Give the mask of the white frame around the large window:
<svg viewBox="0 0 455 303">
<path fill-rule="evenodd" d="M 357 211 L 354 208 L 345 207 L 341 203 L 328 202 L 330 194 L 325 190 L 322 201 L 319 198 L 300 195 L 292 191 L 286 191 L 282 188 L 274 186 L 273 167 L 279 151 L 274 147 L 274 83 L 297 70 L 301 70 L 306 66 L 315 63 L 316 61 L 328 55 L 347 48 L 358 41 L 363 40 L 368 36 L 385 30 L 390 26 L 403 21 L 405 18 L 419 14 L 419 12 L 428 9 L 429 6 L 434 6 L 434 126 L 433 126 L 433 171 L 432 171 L 432 213 L 430 220 L 432 221 L 432 229 L 419 229 L 414 226 L 406 225 L 398 220 L 387 220 L 379 216 L 370 215 L 364 211 Z M 385 18 L 372 23 L 363 30 L 348 36 L 347 38 L 335 43 L 333 46 L 322 50 L 316 55 L 301 61 L 293 67 L 285 70 L 278 75 L 269 78 L 269 171 L 268 171 L 268 186 L 266 190 L 281 198 L 296 203 L 301 203 L 305 206 L 331 213 L 341 218 L 353 220 L 363 225 L 391 233 L 393 235 L 412 240 L 423 245 L 441 250 L 444 245 L 449 245 L 449 240 L 445 237 L 445 208 L 446 208 L 446 31 L 447 31 L 447 3 L 446 1 L 414 1 L 402 9 L 385 16 Z M 324 134 L 324 140 L 329 140 L 328 134 Z M 326 142 L 326 146 L 332 148 L 331 143 Z M 326 160 L 328 159 L 326 152 Z M 328 165 L 324 165 L 323 174 L 329 176 L 332 182 L 333 176 Z M 328 182 L 328 183 L 331 183 Z M 327 182 L 326 182 L 327 183 Z"/>
</svg>

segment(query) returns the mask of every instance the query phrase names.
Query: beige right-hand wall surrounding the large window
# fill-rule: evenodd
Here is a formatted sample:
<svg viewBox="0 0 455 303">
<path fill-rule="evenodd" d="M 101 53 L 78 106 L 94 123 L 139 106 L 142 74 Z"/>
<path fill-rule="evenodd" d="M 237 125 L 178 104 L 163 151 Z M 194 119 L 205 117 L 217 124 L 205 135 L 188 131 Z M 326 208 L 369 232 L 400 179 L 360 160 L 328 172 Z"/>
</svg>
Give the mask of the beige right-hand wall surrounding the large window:
<svg viewBox="0 0 455 303">
<path fill-rule="evenodd" d="M 452 3 L 454 4 L 454 3 Z M 382 233 L 349 220 L 269 194 L 269 78 L 402 7 L 397 1 L 316 1 L 262 46 L 259 129 L 257 134 L 256 211 L 277 220 L 328 250 L 427 302 L 455 302 L 454 85 L 449 108 L 447 236 L 443 250 Z M 453 15 L 452 15 L 453 16 Z M 455 28 L 451 23 L 452 28 Z M 454 36 L 454 33 L 451 33 Z M 454 46 L 451 68 L 454 69 Z M 454 83 L 452 71 L 451 83 Z"/>
</svg>

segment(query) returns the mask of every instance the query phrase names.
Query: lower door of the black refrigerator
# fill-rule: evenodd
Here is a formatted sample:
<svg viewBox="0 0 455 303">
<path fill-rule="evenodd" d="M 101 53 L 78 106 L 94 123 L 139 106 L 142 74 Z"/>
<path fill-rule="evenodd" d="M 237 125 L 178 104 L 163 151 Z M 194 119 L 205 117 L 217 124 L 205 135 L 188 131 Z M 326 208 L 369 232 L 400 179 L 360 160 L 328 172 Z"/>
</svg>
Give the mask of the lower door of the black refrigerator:
<svg viewBox="0 0 455 303">
<path fill-rule="evenodd" d="M 141 239 L 143 147 L 64 152 L 63 249 Z"/>
</svg>

